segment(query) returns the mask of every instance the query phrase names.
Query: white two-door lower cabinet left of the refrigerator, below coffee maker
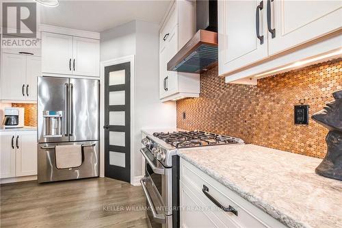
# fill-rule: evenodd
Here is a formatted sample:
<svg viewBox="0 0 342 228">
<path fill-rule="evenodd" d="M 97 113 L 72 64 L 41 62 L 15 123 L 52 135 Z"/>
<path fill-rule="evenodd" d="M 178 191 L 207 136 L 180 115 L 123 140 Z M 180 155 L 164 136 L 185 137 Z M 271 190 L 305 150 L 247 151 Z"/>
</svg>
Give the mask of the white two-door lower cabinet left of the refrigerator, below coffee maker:
<svg viewBox="0 0 342 228">
<path fill-rule="evenodd" d="M 37 175 L 37 131 L 0 131 L 0 178 Z"/>
</svg>

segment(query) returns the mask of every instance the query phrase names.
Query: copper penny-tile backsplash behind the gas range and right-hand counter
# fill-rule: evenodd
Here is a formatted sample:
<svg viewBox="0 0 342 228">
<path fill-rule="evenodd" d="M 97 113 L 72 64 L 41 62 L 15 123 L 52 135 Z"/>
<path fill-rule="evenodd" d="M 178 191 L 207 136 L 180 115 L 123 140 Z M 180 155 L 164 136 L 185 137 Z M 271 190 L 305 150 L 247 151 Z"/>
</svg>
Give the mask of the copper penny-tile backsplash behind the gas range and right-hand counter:
<svg viewBox="0 0 342 228">
<path fill-rule="evenodd" d="M 328 131 L 311 118 L 295 125 L 293 105 L 310 105 L 311 116 L 332 101 L 332 92 L 342 89 L 341 65 L 342 59 L 308 66 L 259 79 L 258 86 L 226 84 L 213 68 L 200 75 L 199 98 L 176 101 L 177 127 L 323 158 Z"/>
</svg>

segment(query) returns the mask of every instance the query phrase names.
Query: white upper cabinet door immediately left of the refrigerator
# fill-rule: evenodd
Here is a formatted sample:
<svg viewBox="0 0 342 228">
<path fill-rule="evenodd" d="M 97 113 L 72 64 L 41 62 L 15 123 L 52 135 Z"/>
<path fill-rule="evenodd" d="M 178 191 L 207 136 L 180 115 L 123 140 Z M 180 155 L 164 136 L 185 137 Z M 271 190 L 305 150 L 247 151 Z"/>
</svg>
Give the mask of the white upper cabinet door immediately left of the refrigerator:
<svg viewBox="0 0 342 228">
<path fill-rule="evenodd" d="M 26 58 L 26 100 L 37 101 L 37 77 L 42 75 L 40 57 L 27 56 Z"/>
</svg>

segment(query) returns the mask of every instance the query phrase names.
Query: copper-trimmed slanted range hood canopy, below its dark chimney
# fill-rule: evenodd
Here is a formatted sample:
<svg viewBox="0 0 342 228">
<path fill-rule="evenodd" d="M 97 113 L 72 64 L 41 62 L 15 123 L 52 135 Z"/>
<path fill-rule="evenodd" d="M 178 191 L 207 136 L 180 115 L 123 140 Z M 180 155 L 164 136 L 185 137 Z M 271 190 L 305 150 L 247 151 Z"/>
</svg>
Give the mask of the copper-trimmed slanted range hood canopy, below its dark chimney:
<svg viewBox="0 0 342 228">
<path fill-rule="evenodd" d="M 168 71 L 202 73 L 218 65 L 218 34 L 200 29 L 168 62 Z"/>
</svg>

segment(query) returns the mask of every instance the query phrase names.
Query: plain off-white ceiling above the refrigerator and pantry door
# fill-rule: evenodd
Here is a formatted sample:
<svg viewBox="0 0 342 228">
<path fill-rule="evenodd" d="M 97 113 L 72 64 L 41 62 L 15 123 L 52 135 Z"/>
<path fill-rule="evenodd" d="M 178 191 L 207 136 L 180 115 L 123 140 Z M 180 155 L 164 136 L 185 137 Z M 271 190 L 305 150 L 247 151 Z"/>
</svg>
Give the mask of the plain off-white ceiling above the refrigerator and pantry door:
<svg viewBox="0 0 342 228">
<path fill-rule="evenodd" d="M 61 1 L 55 8 L 40 7 L 40 23 L 105 31 L 129 21 L 161 23 L 170 0 L 159 1 Z"/>
</svg>

